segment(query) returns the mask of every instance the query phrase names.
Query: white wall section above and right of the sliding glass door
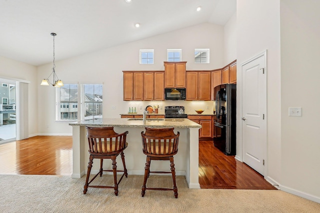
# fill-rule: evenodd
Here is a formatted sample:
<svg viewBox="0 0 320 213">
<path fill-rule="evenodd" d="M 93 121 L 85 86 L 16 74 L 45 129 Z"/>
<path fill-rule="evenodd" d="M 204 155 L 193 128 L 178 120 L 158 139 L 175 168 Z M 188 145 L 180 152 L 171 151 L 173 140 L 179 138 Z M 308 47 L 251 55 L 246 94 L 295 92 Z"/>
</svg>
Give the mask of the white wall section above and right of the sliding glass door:
<svg viewBox="0 0 320 213">
<path fill-rule="evenodd" d="M 36 67 L 0 56 L 0 76 L 30 81 L 28 84 L 28 135 L 35 136 L 38 132 L 37 123 L 37 75 Z"/>
</svg>

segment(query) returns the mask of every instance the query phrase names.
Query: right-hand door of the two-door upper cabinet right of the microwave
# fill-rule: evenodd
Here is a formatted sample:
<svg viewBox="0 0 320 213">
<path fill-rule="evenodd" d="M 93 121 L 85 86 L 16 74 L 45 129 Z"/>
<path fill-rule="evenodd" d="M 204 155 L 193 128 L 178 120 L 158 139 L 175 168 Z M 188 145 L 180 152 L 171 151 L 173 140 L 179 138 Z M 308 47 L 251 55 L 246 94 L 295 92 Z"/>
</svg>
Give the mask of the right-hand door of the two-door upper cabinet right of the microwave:
<svg viewBox="0 0 320 213">
<path fill-rule="evenodd" d="M 209 101 L 211 99 L 211 73 L 198 73 L 198 100 Z"/>
</svg>

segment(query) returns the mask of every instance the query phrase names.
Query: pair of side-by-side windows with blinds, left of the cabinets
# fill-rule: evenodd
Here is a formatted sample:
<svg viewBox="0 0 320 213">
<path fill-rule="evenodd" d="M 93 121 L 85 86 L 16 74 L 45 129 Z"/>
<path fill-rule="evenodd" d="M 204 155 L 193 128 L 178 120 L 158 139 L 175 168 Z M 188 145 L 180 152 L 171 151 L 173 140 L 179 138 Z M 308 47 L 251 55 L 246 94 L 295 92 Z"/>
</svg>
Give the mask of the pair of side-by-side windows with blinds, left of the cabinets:
<svg viewBox="0 0 320 213">
<path fill-rule="evenodd" d="M 102 119 L 102 84 L 64 84 L 55 98 L 57 121 Z"/>
</svg>

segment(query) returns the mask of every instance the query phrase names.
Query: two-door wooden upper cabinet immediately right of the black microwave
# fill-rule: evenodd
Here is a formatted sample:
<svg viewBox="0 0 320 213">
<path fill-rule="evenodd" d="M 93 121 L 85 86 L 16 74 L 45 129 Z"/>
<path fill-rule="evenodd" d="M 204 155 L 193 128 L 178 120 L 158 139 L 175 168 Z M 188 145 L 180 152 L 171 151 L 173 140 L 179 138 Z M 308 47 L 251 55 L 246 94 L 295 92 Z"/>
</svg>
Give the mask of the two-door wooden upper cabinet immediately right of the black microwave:
<svg viewBox="0 0 320 213">
<path fill-rule="evenodd" d="M 211 72 L 188 71 L 186 72 L 186 100 L 211 99 Z"/>
</svg>

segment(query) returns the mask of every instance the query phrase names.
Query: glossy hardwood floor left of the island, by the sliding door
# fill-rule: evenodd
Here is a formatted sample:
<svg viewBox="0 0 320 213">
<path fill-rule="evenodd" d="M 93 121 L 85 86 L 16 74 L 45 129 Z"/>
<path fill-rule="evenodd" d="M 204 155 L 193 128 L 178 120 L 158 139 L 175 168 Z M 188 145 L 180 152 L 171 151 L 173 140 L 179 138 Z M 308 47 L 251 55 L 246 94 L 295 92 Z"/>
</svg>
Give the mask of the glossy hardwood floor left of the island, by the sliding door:
<svg viewBox="0 0 320 213">
<path fill-rule="evenodd" d="M 0 145 L 0 174 L 71 175 L 72 137 L 35 136 Z"/>
</svg>

